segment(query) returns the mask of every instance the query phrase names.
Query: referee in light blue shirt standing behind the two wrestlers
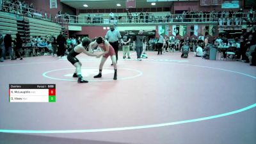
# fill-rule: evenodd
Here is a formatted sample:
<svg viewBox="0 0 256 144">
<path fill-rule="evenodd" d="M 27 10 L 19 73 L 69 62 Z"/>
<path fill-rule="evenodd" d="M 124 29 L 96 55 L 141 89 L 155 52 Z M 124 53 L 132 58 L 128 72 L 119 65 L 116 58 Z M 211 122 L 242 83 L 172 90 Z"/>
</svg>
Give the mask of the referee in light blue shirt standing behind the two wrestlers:
<svg viewBox="0 0 256 144">
<path fill-rule="evenodd" d="M 118 47 L 121 44 L 121 35 L 120 35 L 120 32 L 117 29 L 115 29 L 114 24 L 111 24 L 109 26 L 109 28 L 110 29 L 106 33 L 105 38 L 108 40 L 109 44 L 115 49 L 116 63 L 117 63 L 117 60 L 118 60 Z M 113 63 L 111 65 L 113 65 Z"/>
</svg>

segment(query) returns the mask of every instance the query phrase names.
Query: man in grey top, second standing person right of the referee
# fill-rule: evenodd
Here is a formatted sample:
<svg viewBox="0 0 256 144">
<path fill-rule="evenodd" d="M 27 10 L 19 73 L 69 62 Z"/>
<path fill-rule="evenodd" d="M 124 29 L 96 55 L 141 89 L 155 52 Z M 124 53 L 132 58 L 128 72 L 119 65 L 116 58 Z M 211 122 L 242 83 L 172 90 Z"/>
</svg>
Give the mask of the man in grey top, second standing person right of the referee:
<svg viewBox="0 0 256 144">
<path fill-rule="evenodd" d="M 136 35 L 133 39 L 133 45 L 136 47 L 136 52 L 137 52 L 137 60 L 141 61 L 141 54 L 143 51 L 143 42 L 145 41 L 145 36 L 143 36 L 143 31 L 140 30 L 138 35 Z M 133 47 L 134 47 L 133 46 Z"/>
</svg>

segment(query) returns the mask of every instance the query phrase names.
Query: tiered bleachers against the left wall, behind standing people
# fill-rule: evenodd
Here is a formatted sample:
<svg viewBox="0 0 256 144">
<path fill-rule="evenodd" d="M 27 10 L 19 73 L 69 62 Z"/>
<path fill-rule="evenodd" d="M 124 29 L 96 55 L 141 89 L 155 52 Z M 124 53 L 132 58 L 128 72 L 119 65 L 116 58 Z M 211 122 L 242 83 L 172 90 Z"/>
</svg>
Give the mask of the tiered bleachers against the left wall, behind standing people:
<svg viewBox="0 0 256 144">
<path fill-rule="evenodd" d="M 25 56 L 29 56 L 31 52 L 31 38 L 33 36 L 58 36 L 60 34 L 61 25 L 47 20 L 34 19 L 15 15 L 8 12 L 0 12 L 0 31 L 3 35 L 11 33 L 12 39 L 16 38 L 19 33 L 23 40 L 23 52 Z"/>
</svg>

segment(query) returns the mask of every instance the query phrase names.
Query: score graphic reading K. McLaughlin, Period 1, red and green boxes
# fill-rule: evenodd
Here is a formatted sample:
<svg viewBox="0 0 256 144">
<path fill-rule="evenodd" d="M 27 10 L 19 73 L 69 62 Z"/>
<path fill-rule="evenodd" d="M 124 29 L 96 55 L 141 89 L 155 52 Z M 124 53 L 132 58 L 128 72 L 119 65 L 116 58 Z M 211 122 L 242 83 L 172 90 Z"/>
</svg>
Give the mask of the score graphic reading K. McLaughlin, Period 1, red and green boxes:
<svg viewBox="0 0 256 144">
<path fill-rule="evenodd" d="M 56 102 L 56 84 L 9 84 L 9 102 Z"/>
</svg>

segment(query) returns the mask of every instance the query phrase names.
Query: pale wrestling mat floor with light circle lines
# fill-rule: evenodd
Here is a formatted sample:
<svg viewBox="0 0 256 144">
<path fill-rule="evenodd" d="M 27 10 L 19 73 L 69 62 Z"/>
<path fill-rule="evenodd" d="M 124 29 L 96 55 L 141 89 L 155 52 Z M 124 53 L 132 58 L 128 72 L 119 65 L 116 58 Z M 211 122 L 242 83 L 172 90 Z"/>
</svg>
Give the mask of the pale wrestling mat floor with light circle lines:
<svg viewBox="0 0 256 144">
<path fill-rule="evenodd" d="M 119 52 L 113 81 L 110 59 L 93 79 L 100 59 L 80 54 L 87 84 L 66 59 L 0 63 L 0 143 L 256 143 L 256 67 L 192 52 L 131 57 Z M 56 84 L 56 102 L 8 102 L 8 84 Z"/>
</svg>

